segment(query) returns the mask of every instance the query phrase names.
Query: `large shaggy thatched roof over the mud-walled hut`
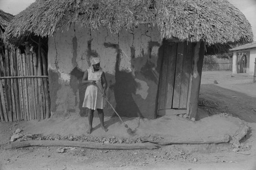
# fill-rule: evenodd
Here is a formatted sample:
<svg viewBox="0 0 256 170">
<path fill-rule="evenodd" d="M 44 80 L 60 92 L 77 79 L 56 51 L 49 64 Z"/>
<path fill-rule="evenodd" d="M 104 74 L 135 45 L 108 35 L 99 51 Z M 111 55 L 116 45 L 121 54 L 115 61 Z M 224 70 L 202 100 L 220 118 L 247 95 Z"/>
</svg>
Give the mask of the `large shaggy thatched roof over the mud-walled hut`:
<svg viewBox="0 0 256 170">
<path fill-rule="evenodd" d="M 252 41 L 250 23 L 226 0 L 36 0 L 14 17 L 6 40 L 15 43 L 30 34 L 52 36 L 71 23 L 112 33 L 141 23 L 157 26 L 162 38 L 206 44 Z"/>
</svg>

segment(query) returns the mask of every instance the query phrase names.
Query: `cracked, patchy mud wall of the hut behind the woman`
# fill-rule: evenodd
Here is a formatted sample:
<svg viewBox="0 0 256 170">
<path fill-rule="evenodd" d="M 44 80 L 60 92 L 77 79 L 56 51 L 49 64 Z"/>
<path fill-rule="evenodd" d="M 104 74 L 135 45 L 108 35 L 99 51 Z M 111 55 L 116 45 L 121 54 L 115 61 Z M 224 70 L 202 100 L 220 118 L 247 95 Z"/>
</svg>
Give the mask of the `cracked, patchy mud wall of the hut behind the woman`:
<svg viewBox="0 0 256 170">
<path fill-rule="evenodd" d="M 72 25 L 48 41 L 48 68 L 51 112 L 54 116 L 79 114 L 86 86 L 83 71 L 90 56 L 100 57 L 108 83 L 108 99 L 121 116 L 155 118 L 161 45 L 157 28 L 144 25 L 134 30 L 111 34 L 105 27 L 98 31 Z M 105 115 L 113 115 L 110 105 Z"/>
</svg>

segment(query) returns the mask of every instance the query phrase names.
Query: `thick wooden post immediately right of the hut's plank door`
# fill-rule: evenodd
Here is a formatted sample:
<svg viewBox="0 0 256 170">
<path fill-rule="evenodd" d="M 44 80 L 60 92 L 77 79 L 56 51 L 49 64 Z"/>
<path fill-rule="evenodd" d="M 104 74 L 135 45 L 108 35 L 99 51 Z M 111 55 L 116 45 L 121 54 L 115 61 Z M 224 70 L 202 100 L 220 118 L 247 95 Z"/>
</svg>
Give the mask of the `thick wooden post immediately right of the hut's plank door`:
<svg viewBox="0 0 256 170">
<path fill-rule="evenodd" d="M 189 107 L 189 118 L 197 119 L 197 111 L 198 111 L 198 99 L 199 99 L 199 91 L 200 91 L 200 83 L 202 76 L 202 67 L 203 67 L 203 59 L 204 59 L 204 43 L 197 42 L 194 48 L 194 58 L 193 58 L 193 68 L 191 72 L 192 76 L 192 84 L 190 91 L 190 107 Z"/>
</svg>

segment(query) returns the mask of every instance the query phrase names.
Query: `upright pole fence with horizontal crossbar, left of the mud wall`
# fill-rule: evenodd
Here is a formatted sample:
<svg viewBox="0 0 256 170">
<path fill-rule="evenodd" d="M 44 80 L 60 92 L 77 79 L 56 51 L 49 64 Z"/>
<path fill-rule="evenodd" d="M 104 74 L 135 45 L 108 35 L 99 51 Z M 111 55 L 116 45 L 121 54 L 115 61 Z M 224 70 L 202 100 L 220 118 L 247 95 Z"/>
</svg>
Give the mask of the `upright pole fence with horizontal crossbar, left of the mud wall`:
<svg viewBox="0 0 256 170">
<path fill-rule="evenodd" d="M 0 54 L 2 122 L 50 117 L 46 56 L 41 54 L 40 47 L 38 49 L 38 55 L 22 54 L 19 49 L 8 46 L 4 49 L 5 55 Z"/>
</svg>

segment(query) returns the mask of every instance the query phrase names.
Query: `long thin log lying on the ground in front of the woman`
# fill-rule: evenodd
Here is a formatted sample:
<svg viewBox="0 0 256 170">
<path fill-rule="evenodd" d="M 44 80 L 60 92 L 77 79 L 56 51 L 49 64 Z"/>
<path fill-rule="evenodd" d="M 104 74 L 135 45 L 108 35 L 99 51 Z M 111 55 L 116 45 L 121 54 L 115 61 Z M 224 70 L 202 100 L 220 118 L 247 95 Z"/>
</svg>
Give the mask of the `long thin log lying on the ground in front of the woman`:
<svg viewBox="0 0 256 170">
<path fill-rule="evenodd" d="M 23 147 L 81 147 L 101 150 L 139 150 L 139 149 L 157 149 L 154 143 L 134 143 L 134 144 L 102 144 L 96 142 L 79 142 L 69 140 L 28 140 L 16 141 L 5 145 L 4 149 L 23 148 Z"/>
</svg>

